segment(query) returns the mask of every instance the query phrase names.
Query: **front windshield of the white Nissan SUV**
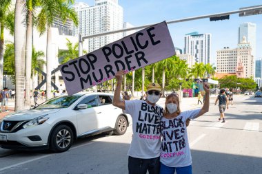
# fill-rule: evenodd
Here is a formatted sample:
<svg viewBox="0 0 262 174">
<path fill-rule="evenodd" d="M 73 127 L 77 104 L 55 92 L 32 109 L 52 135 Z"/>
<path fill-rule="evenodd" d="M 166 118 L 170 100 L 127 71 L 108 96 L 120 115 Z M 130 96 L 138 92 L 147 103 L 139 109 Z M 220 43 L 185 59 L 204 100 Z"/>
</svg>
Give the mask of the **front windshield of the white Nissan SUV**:
<svg viewBox="0 0 262 174">
<path fill-rule="evenodd" d="M 53 98 L 39 105 L 36 109 L 59 109 L 70 107 L 73 102 L 79 99 L 81 96 L 61 96 Z"/>
</svg>

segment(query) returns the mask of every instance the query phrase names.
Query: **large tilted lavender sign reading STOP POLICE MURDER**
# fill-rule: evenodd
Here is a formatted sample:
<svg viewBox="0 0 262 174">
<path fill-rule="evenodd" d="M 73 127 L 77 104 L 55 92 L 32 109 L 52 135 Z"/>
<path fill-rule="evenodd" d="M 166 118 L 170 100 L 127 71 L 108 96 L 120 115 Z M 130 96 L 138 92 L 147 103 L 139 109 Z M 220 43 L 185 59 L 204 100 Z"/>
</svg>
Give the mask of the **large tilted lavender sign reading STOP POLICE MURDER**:
<svg viewBox="0 0 262 174">
<path fill-rule="evenodd" d="M 69 95 L 175 54 L 165 21 L 60 65 Z"/>
</svg>

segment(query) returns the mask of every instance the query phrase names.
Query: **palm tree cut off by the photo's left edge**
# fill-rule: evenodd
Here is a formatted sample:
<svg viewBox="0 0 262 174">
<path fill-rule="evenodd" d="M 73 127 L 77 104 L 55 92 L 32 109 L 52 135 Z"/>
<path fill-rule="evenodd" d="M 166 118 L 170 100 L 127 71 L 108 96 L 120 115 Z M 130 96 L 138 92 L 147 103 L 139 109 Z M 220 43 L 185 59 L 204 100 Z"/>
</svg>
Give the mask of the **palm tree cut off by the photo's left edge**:
<svg viewBox="0 0 262 174">
<path fill-rule="evenodd" d="M 3 89 L 3 29 L 5 26 L 6 16 L 11 5 L 11 0 L 0 1 L 0 89 Z"/>
</svg>

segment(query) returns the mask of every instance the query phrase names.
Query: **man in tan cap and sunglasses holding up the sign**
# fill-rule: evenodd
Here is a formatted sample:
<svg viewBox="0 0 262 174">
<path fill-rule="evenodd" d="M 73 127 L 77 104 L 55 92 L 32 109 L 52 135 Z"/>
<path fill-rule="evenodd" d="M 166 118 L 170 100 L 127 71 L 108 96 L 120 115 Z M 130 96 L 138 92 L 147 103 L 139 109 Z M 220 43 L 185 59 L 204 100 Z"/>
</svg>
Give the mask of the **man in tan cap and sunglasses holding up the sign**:
<svg viewBox="0 0 262 174">
<path fill-rule="evenodd" d="M 161 138 L 159 122 L 163 108 L 157 105 L 161 96 L 161 86 L 150 83 L 146 91 L 147 100 L 120 100 L 124 70 L 117 72 L 117 88 L 113 105 L 132 116 L 132 142 L 128 151 L 128 171 L 130 174 L 159 173 Z"/>
</svg>

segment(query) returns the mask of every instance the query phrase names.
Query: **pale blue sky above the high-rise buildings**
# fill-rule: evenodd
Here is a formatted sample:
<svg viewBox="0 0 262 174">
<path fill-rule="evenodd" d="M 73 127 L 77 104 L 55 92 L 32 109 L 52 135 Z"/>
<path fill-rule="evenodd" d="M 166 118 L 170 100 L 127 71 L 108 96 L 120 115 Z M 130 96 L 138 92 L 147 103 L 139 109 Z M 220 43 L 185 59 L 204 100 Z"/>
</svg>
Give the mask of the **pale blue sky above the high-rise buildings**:
<svg viewBox="0 0 262 174">
<path fill-rule="evenodd" d="M 94 0 L 77 0 L 94 6 Z M 134 26 L 172 21 L 239 10 L 239 8 L 262 5 L 261 0 L 119 0 L 123 7 L 123 20 Z M 168 25 L 175 47 L 183 50 L 184 36 L 190 32 L 212 34 L 210 63 L 216 65 L 216 50 L 223 47 L 236 48 L 241 23 L 256 23 L 256 58 L 262 58 L 262 14 L 239 17 L 231 14 L 229 20 L 210 21 L 199 19 Z"/>
</svg>

